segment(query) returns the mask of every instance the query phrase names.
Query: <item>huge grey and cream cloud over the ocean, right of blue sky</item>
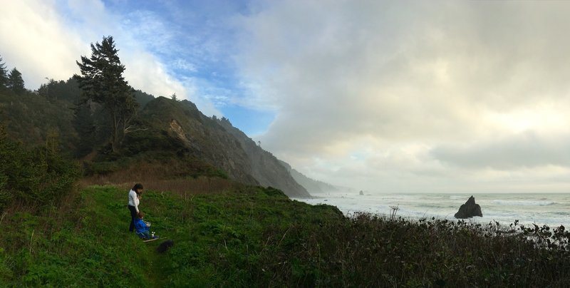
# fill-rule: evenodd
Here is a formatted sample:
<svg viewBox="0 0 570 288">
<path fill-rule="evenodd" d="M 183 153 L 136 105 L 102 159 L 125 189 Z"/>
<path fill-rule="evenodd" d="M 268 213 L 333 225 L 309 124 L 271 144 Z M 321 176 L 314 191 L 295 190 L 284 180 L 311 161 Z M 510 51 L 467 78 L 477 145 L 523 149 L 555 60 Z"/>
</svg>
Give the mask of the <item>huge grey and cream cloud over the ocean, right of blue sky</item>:
<svg viewBox="0 0 570 288">
<path fill-rule="evenodd" d="M 247 100 L 278 111 L 259 139 L 301 172 L 371 189 L 566 166 L 569 12 L 564 2 L 272 3 L 242 22 Z M 354 158 L 359 143 L 368 152 Z"/>
</svg>

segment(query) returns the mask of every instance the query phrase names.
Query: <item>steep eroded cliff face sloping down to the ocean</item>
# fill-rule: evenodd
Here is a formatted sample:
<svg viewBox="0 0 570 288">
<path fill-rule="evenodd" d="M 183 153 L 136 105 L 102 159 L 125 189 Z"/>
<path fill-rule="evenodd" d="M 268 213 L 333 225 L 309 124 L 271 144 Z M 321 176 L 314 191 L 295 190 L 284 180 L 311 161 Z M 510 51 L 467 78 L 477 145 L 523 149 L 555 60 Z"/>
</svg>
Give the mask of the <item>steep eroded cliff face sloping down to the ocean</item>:
<svg viewBox="0 0 570 288">
<path fill-rule="evenodd" d="M 251 185 L 276 187 L 289 197 L 310 197 L 279 160 L 261 149 L 227 119 L 209 118 L 190 101 L 164 97 L 147 104 L 141 115 L 177 138 L 189 153 L 224 170 L 229 178 Z"/>
</svg>

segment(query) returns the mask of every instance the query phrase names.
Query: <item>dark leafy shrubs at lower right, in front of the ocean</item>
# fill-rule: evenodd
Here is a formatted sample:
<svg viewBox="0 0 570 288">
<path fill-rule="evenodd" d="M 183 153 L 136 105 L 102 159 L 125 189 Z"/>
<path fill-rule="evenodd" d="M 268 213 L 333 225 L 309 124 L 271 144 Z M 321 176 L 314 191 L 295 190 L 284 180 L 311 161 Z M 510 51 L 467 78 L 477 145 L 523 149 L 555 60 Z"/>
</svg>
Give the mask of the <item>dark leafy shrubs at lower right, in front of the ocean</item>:
<svg viewBox="0 0 570 288">
<path fill-rule="evenodd" d="M 500 230 L 494 223 L 485 227 L 357 214 L 347 222 L 318 227 L 309 237 L 299 236 L 292 250 L 274 253 L 284 257 L 267 261 L 269 267 L 275 262 L 295 263 L 285 274 L 273 273 L 290 279 L 289 283 L 302 281 L 304 286 L 536 287 L 548 283 L 567 287 L 570 277 L 561 271 L 570 267 L 570 235 L 559 235 L 565 240 L 553 250 L 533 245 L 521 230 Z M 554 262 L 561 270 L 551 269 Z"/>
</svg>

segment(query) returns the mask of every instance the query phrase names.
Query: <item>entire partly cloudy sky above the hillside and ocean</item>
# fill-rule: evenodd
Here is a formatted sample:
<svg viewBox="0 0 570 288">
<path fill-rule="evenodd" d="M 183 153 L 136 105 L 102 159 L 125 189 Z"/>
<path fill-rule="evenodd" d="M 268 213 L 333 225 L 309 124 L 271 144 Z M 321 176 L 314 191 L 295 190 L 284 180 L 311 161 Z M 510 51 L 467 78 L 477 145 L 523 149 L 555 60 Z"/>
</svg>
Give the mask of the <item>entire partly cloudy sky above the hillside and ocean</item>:
<svg viewBox="0 0 570 288">
<path fill-rule="evenodd" d="M 26 88 L 113 36 L 131 86 L 368 193 L 569 192 L 570 1 L 0 0 Z"/>
</svg>

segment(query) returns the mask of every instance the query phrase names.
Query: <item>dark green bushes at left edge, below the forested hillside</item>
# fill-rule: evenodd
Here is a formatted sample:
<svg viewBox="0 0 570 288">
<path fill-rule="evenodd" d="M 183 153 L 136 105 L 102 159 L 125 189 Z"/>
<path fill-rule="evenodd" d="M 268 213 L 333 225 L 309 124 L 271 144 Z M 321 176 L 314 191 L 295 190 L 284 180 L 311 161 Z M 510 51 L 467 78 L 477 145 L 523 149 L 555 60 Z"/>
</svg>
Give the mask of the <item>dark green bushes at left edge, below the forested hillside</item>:
<svg viewBox="0 0 570 288">
<path fill-rule="evenodd" d="M 26 148 L 9 140 L 0 126 L 0 212 L 14 202 L 28 206 L 57 203 L 73 189 L 78 169 L 58 153 L 56 133 L 46 145 Z"/>
</svg>

